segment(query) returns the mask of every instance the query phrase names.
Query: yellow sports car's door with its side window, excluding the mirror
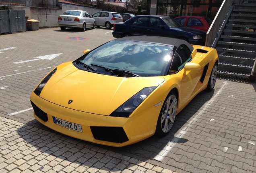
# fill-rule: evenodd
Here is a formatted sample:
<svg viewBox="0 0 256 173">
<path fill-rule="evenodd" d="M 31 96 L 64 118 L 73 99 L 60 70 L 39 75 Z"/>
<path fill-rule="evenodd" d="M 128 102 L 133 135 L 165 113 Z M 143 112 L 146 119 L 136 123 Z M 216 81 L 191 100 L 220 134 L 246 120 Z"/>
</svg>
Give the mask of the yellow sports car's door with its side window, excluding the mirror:
<svg viewBox="0 0 256 173">
<path fill-rule="evenodd" d="M 200 70 L 188 70 L 184 72 L 184 66 L 187 62 L 199 62 L 201 66 L 204 66 L 203 59 L 192 59 L 190 49 L 182 44 L 175 51 L 171 65 L 171 69 L 179 71 L 178 74 L 181 77 L 180 105 L 185 105 L 197 93 L 198 83 L 200 82 L 203 72 L 203 68 Z"/>
</svg>

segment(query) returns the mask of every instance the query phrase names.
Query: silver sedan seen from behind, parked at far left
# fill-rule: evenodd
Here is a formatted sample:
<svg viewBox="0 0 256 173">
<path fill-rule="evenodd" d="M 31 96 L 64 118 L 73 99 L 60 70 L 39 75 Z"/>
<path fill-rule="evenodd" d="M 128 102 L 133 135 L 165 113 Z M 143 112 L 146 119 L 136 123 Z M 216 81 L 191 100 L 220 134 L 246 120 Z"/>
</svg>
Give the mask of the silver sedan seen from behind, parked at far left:
<svg viewBox="0 0 256 173">
<path fill-rule="evenodd" d="M 96 27 L 94 18 L 86 11 L 81 10 L 66 10 L 59 16 L 58 25 L 61 30 L 65 30 L 66 28 L 81 28 L 85 31 L 86 28 L 95 29 Z"/>
</svg>

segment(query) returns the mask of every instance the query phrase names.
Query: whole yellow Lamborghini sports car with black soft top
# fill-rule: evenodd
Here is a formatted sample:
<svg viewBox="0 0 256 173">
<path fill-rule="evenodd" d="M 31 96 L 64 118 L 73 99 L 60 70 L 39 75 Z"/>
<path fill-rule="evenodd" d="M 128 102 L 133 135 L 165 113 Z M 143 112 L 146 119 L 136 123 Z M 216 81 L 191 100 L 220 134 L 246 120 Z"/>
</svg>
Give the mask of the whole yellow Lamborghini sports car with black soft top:
<svg viewBox="0 0 256 173">
<path fill-rule="evenodd" d="M 111 40 L 52 70 L 30 100 L 43 125 L 93 143 L 122 147 L 166 135 L 176 115 L 213 90 L 217 51 L 175 38 Z"/>
</svg>

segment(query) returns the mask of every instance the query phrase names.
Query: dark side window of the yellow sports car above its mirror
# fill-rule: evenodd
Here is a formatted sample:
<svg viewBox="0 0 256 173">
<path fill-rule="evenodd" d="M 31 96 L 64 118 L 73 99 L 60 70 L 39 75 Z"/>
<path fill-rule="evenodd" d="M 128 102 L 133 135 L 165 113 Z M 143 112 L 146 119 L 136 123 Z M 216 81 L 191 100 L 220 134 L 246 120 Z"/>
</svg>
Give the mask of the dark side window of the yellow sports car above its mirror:
<svg viewBox="0 0 256 173">
<path fill-rule="evenodd" d="M 192 58 L 190 49 L 184 44 L 181 45 L 179 48 L 177 48 L 174 54 L 170 73 L 180 71 L 180 69 L 184 68 L 185 64 L 191 60 Z"/>
</svg>

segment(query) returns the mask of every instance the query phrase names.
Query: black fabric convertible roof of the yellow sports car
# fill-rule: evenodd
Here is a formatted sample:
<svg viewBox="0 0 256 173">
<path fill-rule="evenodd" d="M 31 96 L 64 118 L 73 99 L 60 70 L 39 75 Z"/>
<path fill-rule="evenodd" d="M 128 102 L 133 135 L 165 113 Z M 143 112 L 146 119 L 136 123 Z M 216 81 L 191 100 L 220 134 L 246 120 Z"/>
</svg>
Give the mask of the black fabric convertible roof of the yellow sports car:
<svg viewBox="0 0 256 173">
<path fill-rule="evenodd" d="M 170 37 L 161 37 L 161 36 L 129 36 L 123 38 L 117 38 L 115 40 L 129 40 L 129 41 L 142 41 L 142 42 L 153 42 L 160 44 L 167 44 L 171 46 L 179 47 L 181 44 L 185 44 L 188 46 L 190 51 L 193 51 L 193 46 L 189 44 L 187 41 L 178 39 L 178 38 L 170 38 Z"/>
</svg>

